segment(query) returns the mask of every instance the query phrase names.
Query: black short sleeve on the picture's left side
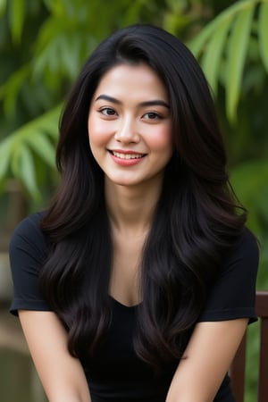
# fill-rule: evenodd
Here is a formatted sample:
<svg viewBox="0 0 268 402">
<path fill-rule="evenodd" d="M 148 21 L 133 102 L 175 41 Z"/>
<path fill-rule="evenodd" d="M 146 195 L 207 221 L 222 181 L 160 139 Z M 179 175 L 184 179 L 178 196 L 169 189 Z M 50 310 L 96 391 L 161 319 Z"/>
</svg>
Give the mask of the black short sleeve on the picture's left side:
<svg viewBox="0 0 268 402">
<path fill-rule="evenodd" d="M 29 215 L 14 230 L 9 255 L 13 277 L 10 312 L 51 310 L 38 287 L 38 275 L 46 258 L 46 241 L 40 229 L 41 213 Z"/>
</svg>

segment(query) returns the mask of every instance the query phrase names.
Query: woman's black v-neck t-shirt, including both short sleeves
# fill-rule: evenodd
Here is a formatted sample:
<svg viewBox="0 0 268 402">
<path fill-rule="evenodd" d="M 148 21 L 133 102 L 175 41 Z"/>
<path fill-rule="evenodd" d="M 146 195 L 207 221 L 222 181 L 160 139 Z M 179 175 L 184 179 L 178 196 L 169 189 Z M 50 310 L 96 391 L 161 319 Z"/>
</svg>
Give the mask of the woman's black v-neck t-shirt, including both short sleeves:
<svg viewBox="0 0 268 402">
<path fill-rule="evenodd" d="M 10 259 L 13 273 L 11 313 L 19 309 L 50 311 L 38 289 L 38 272 L 46 259 L 46 241 L 40 230 L 41 213 L 23 220 L 13 233 Z M 227 258 L 208 296 L 199 322 L 247 317 L 254 322 L 258 247 L 245 229 Z M 176 364 L 159 377 L 141 361 L 132 346 L 138 306 L 113 302 L 113 321 L 105 342 L 94 358 L 79 356 L 88 379 L 92 402 L 164 402 Z M 221 339 L 219 339 L 221 341 Z M 235 402 L 226 374 L 214 402 Z"/>
</svg>

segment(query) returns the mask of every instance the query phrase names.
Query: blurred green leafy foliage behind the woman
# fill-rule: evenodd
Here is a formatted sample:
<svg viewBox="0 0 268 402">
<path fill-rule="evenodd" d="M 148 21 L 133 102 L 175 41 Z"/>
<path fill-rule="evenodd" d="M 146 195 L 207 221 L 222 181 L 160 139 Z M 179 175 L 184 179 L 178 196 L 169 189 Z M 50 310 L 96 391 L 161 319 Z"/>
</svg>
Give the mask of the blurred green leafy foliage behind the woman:
<svg viewBox="0 0 268 402">
<path fill-rule="evenodd" d="M 64 96 L 96 44 L 135 22 L 178 36 L 205 71 L 231 183 L 260 240 L 257 286 L 268 289 L 268 0 L 0 0 L 0 220 L 11 180 L 28 212 L 46 206 Z M 257 348 L 254 325 L 247 402 L 255 400 Z"/>
</svg>

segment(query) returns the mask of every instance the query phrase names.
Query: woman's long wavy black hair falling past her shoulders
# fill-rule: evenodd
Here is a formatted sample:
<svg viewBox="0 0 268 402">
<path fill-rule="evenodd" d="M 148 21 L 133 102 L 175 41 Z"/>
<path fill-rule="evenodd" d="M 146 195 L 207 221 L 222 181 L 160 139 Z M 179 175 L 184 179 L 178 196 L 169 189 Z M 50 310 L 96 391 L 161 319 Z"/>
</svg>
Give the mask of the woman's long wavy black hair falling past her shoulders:
<svg viewBox="0 0 268 402">
<path fill-rule="evenodd" d="M 147 63 L 169 94 L 174 155 L 141 262 L 138 356 L 157 367 L 181 356 L 246 214 L 226 172 L 226 155 L 205 76 L 178 38 L 135 25 L 105 39 L 65 105 L 56 163 L 62 180 L 41 222 L 48 244 L 40 285 L 69 333 L 69 350 L 94 354 L 113 317 L 113 247 L 104 173 L 88 145 L 88 109 L 98 82 L 121 63 Z"/>
</svg>

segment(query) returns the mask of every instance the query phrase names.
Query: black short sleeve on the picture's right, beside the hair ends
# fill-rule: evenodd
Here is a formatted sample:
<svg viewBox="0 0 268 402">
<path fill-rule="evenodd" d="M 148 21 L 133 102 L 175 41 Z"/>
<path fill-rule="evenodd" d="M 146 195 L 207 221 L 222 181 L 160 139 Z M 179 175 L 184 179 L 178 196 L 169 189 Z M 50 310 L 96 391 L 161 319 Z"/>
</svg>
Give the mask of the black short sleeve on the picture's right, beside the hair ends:
<svg viewBox="0 0 268 402">
<path fill-rule="evenodd" d="M 237 318 L 256 321 L 255 284 L 258 261 L 259 249 L 255 237 L 245 229 L 211 289 L 199 322 Z"/>
</svg>

